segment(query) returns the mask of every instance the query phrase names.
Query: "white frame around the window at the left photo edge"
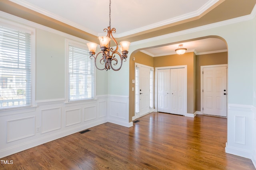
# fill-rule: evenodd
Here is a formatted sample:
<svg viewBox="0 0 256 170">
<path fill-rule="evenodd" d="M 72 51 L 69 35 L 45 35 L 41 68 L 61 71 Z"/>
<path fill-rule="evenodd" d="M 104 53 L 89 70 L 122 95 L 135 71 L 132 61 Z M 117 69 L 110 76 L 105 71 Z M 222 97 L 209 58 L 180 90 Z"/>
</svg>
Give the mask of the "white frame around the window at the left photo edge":
<svg viewBox="0 0 256 170">
<path fill-rule="evenodd" d="M 7 113 L 6 111 L 19 110 L 21 112 L 28 111 L 28 109 L 35 110 L 36 107 L 36 29 L 22 25 L 20 23 L 15 23 L 13 21 L 8 21 L 0 18 L 0 25 L 17 31 L 22 31 L 30 33 L 30 75 L 31 75 L 31 94 L 30 94 L 30 104 L 26 106 L 15 106 L 15 107 L 5 107 L 0 109 L 0 113 Z M 24 109 L 24 110 L 23 110 Z M 29 110 L 30 111 L 30 110 Z"/>
</svg>

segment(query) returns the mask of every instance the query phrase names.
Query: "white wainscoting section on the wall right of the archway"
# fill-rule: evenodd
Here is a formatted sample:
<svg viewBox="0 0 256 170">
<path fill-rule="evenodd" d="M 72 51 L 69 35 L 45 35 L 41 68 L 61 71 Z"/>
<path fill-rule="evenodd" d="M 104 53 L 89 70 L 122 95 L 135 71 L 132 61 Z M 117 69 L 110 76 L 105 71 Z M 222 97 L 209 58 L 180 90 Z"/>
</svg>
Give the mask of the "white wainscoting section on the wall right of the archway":
<svg viewBox="0 0 256 170">
<path fill-rule="evenodd" d="M 253 117 L 253 106 L 228 105 L 226 153 L 252 159 L 254 145 Z"/>
</svg>

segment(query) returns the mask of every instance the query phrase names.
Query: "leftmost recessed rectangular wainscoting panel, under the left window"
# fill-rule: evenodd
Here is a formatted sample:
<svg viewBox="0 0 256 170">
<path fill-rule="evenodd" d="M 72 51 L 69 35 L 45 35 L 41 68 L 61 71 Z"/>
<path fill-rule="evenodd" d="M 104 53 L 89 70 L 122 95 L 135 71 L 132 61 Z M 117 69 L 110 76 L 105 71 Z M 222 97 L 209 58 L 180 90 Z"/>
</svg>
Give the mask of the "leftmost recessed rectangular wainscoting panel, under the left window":
<svg viewBox="0 0 256 170">
<path fill-rule="evenodd" d="M 35 116 L 7 122 L 7 143 L 35 135 Z"/>
</svg>

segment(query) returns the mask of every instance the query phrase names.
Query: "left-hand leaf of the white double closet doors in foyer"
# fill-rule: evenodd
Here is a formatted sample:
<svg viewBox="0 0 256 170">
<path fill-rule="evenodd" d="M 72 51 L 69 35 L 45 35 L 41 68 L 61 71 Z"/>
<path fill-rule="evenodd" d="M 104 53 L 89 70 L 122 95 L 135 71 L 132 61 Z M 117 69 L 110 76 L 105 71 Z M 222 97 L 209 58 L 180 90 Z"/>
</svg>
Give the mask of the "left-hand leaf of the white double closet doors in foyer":
<svg viewBox="0 0 256 170">
<path fill-rule="evenodd" d="M 158 106 L 157 110 L 170 113 L 170 69 L 158 70 Z"/>
</svg>

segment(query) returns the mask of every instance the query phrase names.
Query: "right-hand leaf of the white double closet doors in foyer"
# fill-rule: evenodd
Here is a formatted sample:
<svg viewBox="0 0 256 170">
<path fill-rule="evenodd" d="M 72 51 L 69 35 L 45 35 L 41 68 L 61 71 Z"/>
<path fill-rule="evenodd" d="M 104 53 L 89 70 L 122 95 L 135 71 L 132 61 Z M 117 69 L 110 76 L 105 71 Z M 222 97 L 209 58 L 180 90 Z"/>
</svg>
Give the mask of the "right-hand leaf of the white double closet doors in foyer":
<svg viewBox="0 0 256 170">
<path fill-rule="evenodd" d="M 185 104 L 185 68 L 170 70 L 170 113 L 184 115 Z"/>
</svg>

